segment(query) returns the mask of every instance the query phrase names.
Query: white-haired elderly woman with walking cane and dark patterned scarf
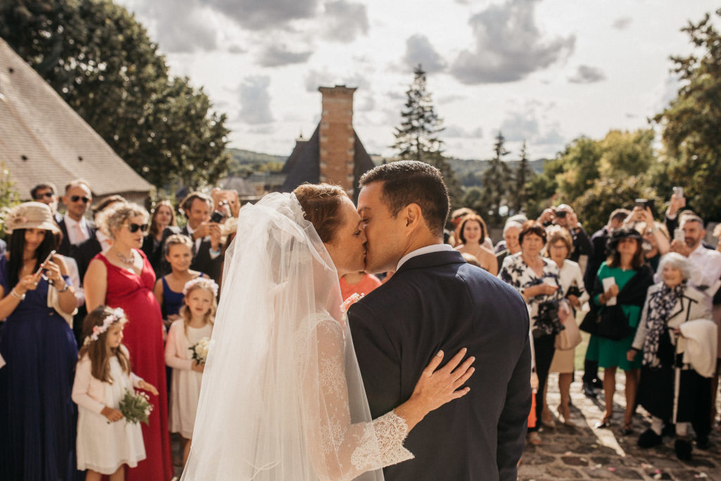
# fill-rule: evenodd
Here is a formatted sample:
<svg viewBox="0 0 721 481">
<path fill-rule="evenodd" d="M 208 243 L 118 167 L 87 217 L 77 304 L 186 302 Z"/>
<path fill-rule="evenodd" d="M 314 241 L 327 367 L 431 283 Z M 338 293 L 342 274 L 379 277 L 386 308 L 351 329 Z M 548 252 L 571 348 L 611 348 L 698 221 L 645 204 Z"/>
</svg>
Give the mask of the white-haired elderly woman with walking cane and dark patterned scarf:
<svg viewBox="0 0 721 481">
<path fill-rule="evenodd" d="M 641 321 L 627 352 L 629 361 L 641 353 L 638 401 L 651 415 L 651 427 L 638 438 L 638 445 L 648 448 L 662 444 L 663 425 L 676 424 L 676 456 L 682 460 L 691 458 L 691 443 L 686 437 L 689 423 L 696 420 L 695 413 L 710 409 L 709 396 L 701 393 L 710 392 L 711 379 L 698 374 L 679 356 L 684 350 L 681 326 L 694 319 L 711 319 L 705 294 L 686 283 L 693 268 L 691 261 L 676 252 L 661 259 L 663 281 L 648 289 Z M 678 385 L 674 368 L 680 369 Z M 709 433 L 699 432 L 699 427 L 694 423 L 696 436 L 708 438 Z"/>
</svg>

